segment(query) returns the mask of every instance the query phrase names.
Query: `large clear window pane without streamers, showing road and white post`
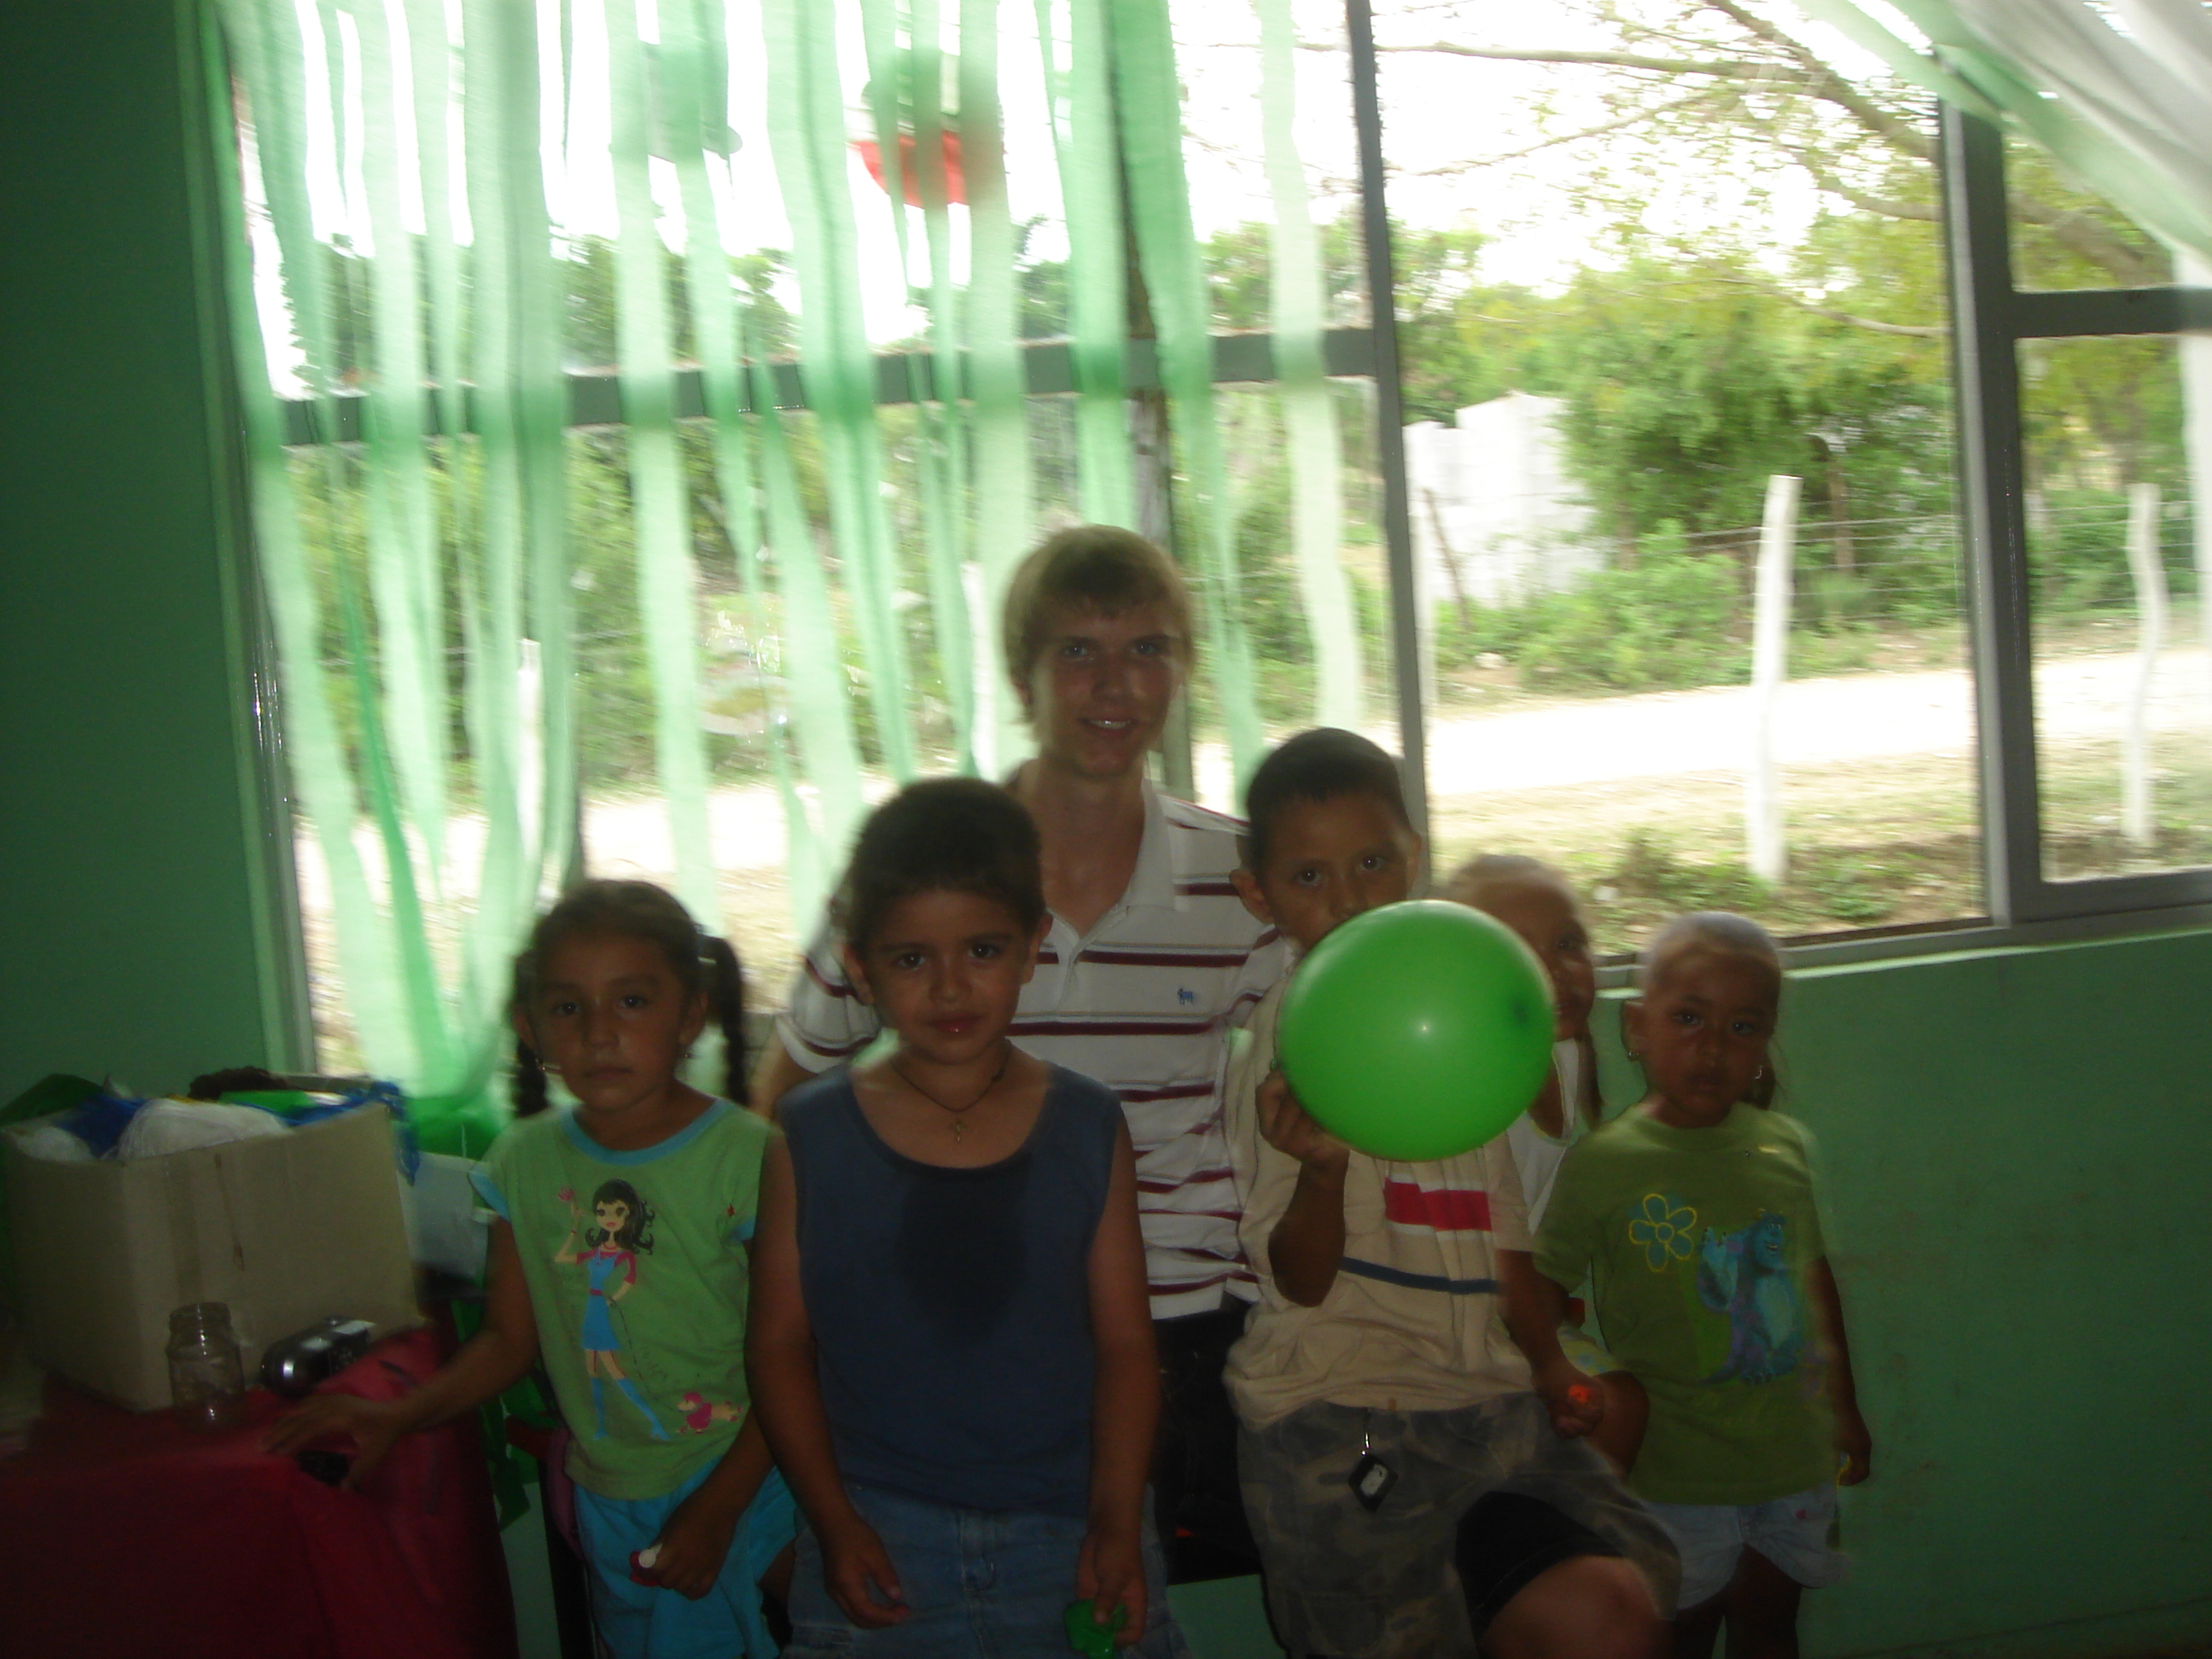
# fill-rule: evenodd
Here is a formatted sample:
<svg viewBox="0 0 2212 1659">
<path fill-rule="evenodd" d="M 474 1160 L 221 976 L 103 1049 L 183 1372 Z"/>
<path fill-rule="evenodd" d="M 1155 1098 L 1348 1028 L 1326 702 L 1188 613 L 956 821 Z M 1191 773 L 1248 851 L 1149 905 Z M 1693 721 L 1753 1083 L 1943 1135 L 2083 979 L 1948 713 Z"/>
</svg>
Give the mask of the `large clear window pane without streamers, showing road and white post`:
<svg viewBox="0 0 2212 1659">
<path fill-rule="evenodd" d="M 1378 7 L 1436 865 L 1562 863 L 1606 951 L 1697 907 L 1785 936 L 1982 909 L 1931 111 L 1781 27 L 1865 119 L 1712 7 Z M 1776 476 L 1801 502 L 1767 880 Z"/>
</svg>

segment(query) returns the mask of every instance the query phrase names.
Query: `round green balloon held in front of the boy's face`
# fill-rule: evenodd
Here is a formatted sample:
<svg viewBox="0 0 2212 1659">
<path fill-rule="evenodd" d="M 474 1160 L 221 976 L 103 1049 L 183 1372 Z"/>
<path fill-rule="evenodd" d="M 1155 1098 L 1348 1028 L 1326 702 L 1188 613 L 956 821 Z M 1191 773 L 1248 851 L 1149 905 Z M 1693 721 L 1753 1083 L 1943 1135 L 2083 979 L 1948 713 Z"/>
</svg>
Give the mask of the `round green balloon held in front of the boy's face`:
<svg viewBox="0 0 2212 1659">
<path fill-rule="evenodd" d="M 1305 953 L 1276 1051 L 1314 1119 L 1369 1157 L 1425 1164 L 1504 1135 L 1551 1071 L 1551 982 L 1502 922 L 1436 898 L 1385 905 Z"/>
</svg>

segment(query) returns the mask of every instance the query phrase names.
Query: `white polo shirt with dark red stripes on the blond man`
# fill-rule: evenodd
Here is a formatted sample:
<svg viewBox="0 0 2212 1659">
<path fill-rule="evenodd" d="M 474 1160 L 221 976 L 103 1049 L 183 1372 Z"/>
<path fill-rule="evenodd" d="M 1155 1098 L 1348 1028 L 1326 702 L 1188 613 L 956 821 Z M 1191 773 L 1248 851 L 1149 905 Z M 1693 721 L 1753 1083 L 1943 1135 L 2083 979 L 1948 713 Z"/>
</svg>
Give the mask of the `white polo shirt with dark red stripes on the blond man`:
<svg viewBox="0 0 2212 1659">
<path fill-rule="evenodd" d="M 1144 843 L 1121 902 L 1088 938 L 1053 916 L 1009 1033 L 1037 1060 L 1097 1077 L 1121 1097 L 1137 1148 L 1152 1318 L 1208 1314 L 1223 1294 L 1256 1294 L 1237 1245 L 1221 1051 L 1228 1026 L 1290 971 L 1290 953 L 1230 885 L 1241 827 L 1146 785 Z M 801 1066 L 827 1071 L 876 1031 L 874 1009 L 845 978 L 843 940 L 825 922 L 792 975 L 776 1033 Z"/>
</svg>

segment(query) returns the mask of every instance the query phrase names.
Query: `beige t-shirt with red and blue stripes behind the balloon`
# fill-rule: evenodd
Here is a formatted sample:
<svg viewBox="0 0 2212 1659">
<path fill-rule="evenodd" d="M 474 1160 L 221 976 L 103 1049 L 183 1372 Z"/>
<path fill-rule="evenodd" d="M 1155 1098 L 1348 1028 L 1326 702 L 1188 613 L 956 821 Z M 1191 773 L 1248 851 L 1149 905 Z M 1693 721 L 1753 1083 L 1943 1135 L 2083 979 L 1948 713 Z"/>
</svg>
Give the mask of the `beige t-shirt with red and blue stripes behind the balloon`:
<svg viewBox="0 0 2212 1659">
<path fill-rule="evenodd" d="M 1345 1254 L 1318 1307 L 1267 1272 L 1267 1237 L 1290 1210 L 1298 1161 L 1259 1133 L 1254 1095 L 1274 1068 L 1281 989 L 1252 1013 L 1228 1064 L 1223 1121 L 1243 1206 L 1259 1310 L 1230 1349 L 1237 1413 L 1274 1422 L 1314 1400 L 1378 1411 L 1451 1411 L 1528 1387 L 1498 1298 L 1498 1252 L 1528 1250 L 1520 1177 L 1504 1137 L 1460 1157 L 1345 1168 Z"/>
</svg>

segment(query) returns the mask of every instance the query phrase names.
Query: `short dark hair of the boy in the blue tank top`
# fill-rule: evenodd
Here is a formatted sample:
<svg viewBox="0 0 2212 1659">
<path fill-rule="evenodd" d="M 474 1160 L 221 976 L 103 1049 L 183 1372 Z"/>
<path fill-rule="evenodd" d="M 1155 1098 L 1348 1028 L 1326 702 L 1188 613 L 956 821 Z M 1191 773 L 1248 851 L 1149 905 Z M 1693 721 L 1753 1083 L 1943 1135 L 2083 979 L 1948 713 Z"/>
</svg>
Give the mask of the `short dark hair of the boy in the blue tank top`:
<svg viewBox="0 0 2212 1659">
<path fill-rule="evenodd" d="M 982 779 L 909 783 L 860 825 L 834 916 L 854 951 L 916 894 L 975 894 L 1033 931 L 1044 920 L 1044 865 L 1029 810 Z"/>
</svg>

